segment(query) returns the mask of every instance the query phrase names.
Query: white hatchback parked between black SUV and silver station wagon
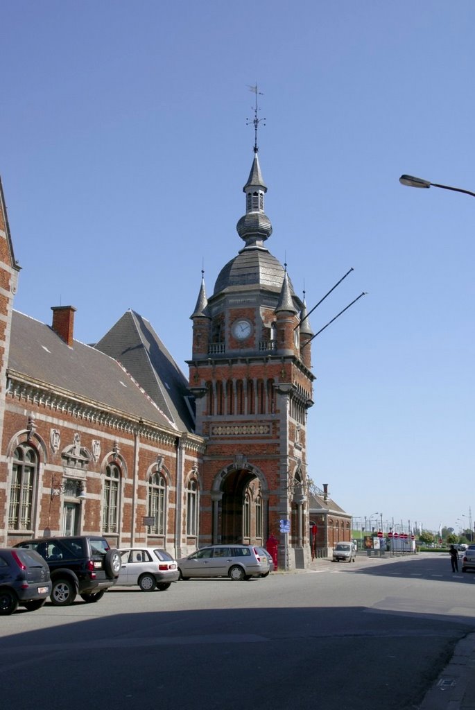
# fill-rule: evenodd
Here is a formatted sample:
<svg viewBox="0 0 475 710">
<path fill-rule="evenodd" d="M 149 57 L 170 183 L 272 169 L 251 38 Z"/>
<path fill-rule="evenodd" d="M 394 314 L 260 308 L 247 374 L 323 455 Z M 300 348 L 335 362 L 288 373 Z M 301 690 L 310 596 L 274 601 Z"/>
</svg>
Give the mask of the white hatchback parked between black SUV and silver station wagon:
<svg viewBox="0 0 475 710">
<path fill-rule="evenodd" d="M 126 547 L 119 550 L 121 571 L 117 584 L 138 586 L 142 591 L 168 589 L 173 581 L 178 581 L 178 564 L 171 555 L 158 547 Z"/>
</svg>

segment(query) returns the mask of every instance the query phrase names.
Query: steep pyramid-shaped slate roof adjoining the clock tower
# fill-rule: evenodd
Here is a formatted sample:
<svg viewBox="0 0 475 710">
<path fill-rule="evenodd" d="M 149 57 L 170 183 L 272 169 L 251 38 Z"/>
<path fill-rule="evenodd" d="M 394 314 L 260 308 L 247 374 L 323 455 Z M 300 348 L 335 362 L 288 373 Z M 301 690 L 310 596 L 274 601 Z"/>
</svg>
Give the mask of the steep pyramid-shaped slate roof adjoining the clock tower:
<svg viewBox="0 0 475 710">
<path fill-rule="evenodd" d="M 148 320 L 126 311 L 95 348 L 118 360 L 180 431 L 194 431 L 187 379 Z"/>
</svg>

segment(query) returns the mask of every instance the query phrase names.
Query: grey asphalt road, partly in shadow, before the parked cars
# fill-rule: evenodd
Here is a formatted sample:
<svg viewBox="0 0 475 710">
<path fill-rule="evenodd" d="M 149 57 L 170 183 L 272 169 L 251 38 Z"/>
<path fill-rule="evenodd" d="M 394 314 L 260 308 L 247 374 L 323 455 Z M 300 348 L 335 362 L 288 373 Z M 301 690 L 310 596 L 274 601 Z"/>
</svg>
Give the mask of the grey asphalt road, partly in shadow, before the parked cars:
<svg viewBox="0 0 475 710">
<path fill-rule="evenodd" d="M 448 555 L 114 588 L 0 620 L 3 707 L 409 710 L 475 627 Z"/>
</svg>

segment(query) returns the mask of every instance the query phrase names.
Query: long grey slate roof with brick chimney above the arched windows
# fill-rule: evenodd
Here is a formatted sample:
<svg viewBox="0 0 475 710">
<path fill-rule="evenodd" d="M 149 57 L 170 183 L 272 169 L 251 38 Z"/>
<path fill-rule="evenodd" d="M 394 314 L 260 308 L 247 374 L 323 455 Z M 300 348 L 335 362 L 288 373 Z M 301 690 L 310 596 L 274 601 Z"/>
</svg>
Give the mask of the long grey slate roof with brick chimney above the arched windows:
<svg viewBox="0 0 475 710">
<path fill-rule="evenodd" d="M 12 313 L 7 374 L 176 431 L 116 360 L 78 340 L 70 348 L 50 326 L 18 311 Z"/>
</svg>

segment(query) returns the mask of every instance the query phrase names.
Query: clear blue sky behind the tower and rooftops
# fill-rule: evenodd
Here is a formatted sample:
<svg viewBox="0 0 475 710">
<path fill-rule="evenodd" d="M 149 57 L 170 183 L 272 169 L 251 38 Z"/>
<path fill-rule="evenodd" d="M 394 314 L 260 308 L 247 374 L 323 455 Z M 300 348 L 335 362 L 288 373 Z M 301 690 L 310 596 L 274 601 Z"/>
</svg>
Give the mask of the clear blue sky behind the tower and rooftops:
<svg viewBox="0 0 475 710">
<path fill-rule="evenodd" d="M 398 178 L 475 190 L 474 28 L 471 0 L 0 0 L 16 309 L 95 342 L 131 307 L 187 373 L 257 82 L 269 249 L 309 307 L 354 268 L 314 331 L 368 292 L 314 341 L 310 476 L 356 517 L 468 523 L 475 200 Z"/>
</svg>

